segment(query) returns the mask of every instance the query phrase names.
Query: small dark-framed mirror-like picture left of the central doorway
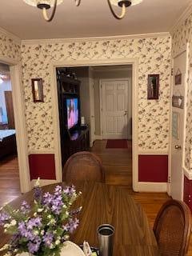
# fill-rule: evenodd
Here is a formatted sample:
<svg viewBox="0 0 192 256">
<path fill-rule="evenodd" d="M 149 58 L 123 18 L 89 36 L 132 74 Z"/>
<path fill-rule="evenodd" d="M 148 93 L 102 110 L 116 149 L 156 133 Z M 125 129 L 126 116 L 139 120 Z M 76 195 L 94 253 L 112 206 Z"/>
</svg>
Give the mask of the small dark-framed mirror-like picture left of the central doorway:
<svg viewBox="0 0 192 256">
<path fill-rule="evenodd" d="M 43 101 L 43 88 L 42 88 L 42 78 L 33 78 L 32 82 L 32 93 L 34 102 L 44 102 Z"/>
</svg>

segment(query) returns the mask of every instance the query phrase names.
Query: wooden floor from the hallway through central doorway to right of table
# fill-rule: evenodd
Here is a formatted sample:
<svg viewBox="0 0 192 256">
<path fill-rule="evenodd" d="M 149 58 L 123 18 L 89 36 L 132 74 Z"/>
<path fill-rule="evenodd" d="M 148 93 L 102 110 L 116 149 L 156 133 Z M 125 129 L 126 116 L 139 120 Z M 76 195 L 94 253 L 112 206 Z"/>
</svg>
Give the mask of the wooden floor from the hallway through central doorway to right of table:
<svg viewBox="0 0 192 256">
<path fill-rule="evenodd" d="M 106 149 L 106 141 L 95 141 L 91 151 L 102 159 L 106 171 L 106 183 L 126 187 L 135 201 L 141 203 L 152 228 L 158 210 L 169 196 L 166 193 L 135 193 L 132 190 L 131 150 Z M 192 256 L 192 235 L 187 255 Z"/>
</svg>

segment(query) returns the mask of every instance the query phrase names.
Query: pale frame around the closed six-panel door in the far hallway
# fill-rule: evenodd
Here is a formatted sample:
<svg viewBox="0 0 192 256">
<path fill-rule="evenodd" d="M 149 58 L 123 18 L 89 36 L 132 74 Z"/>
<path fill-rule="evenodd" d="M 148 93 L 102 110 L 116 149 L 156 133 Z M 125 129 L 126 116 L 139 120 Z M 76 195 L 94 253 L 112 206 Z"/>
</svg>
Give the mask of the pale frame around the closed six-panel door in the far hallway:
<svg viewBox="0 0 192 256">
<path fill-rule="evenodd" d="M 103 127 L 103 114 L 102 114 L 102 82 L 106 82 L 106 81 L 128 81 L 128 83 L 130 83 L 131 79 L 130 78 L 110 78 L 110 79 L 99 79 L 99 102 L 100 102 L 100 131 L 101 131 L 101 139 L 103 139 L 103 133 L 102 133 L 102 127 Z M 128 86 L 128 95 L 130 94 L 130 86 Z M 132 111 L 133 111 L 133 102 L 132 102 Z M 131 111 L 131 112 L 132 112 Z M 130 110 L 129 110 L 129 106 L 127 105 L 127 113 L 128 113 L 128 118 L 130 118 Z M 132 113 L 131 113 L 132 114 Z M 127 132 L 127 135 L 128 132 Z M 128 138 L 127 138 L 128 139 Z"/>
</svg>

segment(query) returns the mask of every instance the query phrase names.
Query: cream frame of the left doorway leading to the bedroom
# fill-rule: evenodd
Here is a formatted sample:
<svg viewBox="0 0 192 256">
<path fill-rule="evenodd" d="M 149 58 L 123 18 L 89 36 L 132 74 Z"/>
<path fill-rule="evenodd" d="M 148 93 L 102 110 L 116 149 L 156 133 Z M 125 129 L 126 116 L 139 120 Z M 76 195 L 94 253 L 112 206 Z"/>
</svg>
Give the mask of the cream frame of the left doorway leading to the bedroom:
<svg viewBox="0 0 192 256">
<path fill-rule="evenodd" d="M 10 81 L 14 106 L 14 123 L 18 150 L 18 167 L 21 193 L 31 190 L 28 161 L 27 134 L 21 62 L 0 56 L 0 62 L 10 66 Z"/>
</svg>

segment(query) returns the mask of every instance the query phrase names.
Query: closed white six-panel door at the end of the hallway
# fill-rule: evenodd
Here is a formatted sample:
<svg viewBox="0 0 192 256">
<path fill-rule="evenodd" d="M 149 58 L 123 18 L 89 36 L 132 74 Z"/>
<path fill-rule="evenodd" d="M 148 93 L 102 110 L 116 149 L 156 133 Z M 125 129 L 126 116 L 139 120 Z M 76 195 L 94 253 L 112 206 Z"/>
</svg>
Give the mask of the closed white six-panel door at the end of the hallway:
<svg viewBox="0 0 192 256">
<path fill-rule="evenodd" d="M 127 80 L 102 80 L 102 138 L 128 138 Z"/>
</svg>

